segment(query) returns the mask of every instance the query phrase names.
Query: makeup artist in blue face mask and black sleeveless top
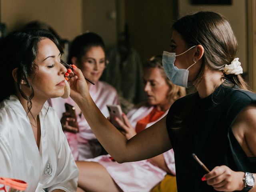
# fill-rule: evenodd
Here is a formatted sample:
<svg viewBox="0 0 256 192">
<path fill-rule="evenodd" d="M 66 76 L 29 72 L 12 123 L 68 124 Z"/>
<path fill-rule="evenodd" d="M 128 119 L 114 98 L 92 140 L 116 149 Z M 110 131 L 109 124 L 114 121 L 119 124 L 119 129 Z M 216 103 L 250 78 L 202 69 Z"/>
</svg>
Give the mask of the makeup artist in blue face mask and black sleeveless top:
<svg viewBox="0 0 256 192">
<path fill-rule="evenodd" d="M 256 192 L 256 95 L 241 77 L 228 20 L 197 12 L 180 18 L 173 29 L 171 53 L 163 53 L 165 72 L 174 84 L 193 85 L 196 92 L 176 100 L 156 124 L 127 140 L 98 110 L 79 69 L 70 80 L 71 97 L 117 162 L 144 160 L 173 148 L 178 192 Z"/>
</svg>

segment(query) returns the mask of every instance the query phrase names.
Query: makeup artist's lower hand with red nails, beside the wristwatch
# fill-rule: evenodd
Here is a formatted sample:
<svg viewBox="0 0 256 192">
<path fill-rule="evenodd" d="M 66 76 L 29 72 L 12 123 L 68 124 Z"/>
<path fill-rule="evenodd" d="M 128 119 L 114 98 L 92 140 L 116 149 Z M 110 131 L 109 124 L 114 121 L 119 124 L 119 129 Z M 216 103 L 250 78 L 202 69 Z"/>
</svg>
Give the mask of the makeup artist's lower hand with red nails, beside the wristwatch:
<svg viewBox="0 0 256 192">
<path fill-rule="evenodd" d="M 244 188 L 244 172 L 235 172 L 229 167 L 216 166 L 208 174 L 205 174 L 202 181 L 214 187 L 216 191 L 240 191 Z"/>
</svg>

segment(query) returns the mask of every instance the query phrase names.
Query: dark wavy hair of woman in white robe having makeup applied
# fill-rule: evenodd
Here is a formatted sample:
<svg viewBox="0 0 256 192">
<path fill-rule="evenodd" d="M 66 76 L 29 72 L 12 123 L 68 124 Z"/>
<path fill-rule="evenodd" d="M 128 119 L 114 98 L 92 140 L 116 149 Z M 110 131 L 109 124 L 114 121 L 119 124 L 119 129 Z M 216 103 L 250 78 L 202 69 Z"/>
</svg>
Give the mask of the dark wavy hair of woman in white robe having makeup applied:
<svg viewBox="0 0 256 192">
<path fill-rule="evenodd" d="M 58 39 L 49 31 L 44 29 L 25 29 L 8 34 L 0 41 L 0 61 L 4 73 L 0 76 L 2 92 L 0 102 L 11 94 L 16 93 L 16 87 L 21 96 L 28 101 L 28 111 L 32 108 L 31 99 L 34 96 L 34 90 L 28 82 L 28 77 L 34 78 L 38 71 L 38 66 L 34 60 L 38 54 L 38 43 L 44 38 L 49 38 L 56 44 L 60 53 L 63 50 Z M 12 71 L 17 68 L 17 82 L 14 81 Z M 22 90 L 22 80 L 30 90 L 27 95 Z"/>
</svg>

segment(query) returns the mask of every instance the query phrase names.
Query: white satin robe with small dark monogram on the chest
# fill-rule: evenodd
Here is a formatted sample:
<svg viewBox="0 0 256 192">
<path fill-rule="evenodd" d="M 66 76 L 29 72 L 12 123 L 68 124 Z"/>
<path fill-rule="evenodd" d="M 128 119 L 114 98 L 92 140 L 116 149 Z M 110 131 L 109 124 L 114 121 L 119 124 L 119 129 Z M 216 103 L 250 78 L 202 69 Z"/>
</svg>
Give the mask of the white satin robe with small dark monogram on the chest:
<svg viewBox="0 0 256 192">
<path fill-rule="evenodd" d="M 78 169 L 60 120 L 44 105 L 40 114 L 40 147 L 19 99 L 11 95 L 0 103 L 0 176 L 28 183 L 26 191 L 76 190 Z"/>
</svg>

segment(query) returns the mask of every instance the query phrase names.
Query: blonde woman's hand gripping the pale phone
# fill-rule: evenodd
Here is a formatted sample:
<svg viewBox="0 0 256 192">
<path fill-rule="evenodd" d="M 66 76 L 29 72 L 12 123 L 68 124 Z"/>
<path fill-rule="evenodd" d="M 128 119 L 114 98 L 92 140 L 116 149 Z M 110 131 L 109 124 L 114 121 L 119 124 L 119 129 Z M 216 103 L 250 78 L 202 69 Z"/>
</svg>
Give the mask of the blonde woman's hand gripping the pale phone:
<svg viewBox="0 0 256 192">
<path fill-rule="evenodd" d="M 130 139 L 132 138 L 134 135 L 136 135 L 136 131 L 134 130 L 134 128 L 132 127 L 132 125 L 130 124 L 127 116 L 123 113 L 122 114 L 123 119 L 124 119 L 124 123 L 118 118 L 115 118 L 115 121 L 118 123 L 118 125 L 124 130 L 121 131 L 121 133 L 127 138 Z"/>
</svg>

